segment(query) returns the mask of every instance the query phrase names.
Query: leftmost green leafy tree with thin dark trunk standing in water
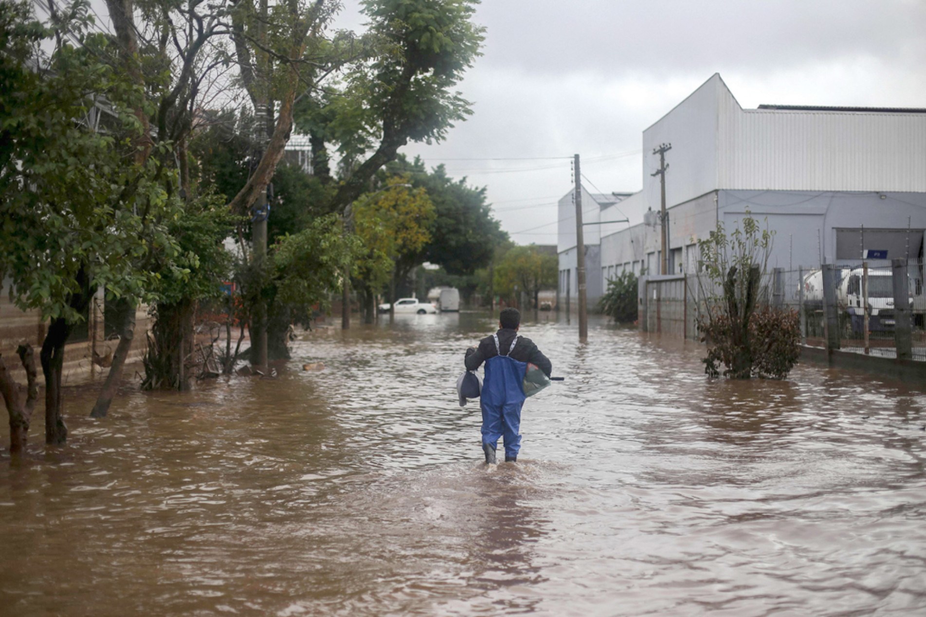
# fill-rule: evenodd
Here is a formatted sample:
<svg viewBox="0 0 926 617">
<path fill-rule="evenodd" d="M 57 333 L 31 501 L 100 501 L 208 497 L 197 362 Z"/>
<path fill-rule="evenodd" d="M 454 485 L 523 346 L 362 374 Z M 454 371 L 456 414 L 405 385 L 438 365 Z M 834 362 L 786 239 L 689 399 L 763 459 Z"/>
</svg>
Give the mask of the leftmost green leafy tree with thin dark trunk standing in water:
<svg viewBox="0 0 926 617">
<path fill-rule="evenodd" d="M 153 257 L 170 265 L 179 253 L 165 224 L 181 211 L 166 189 L 174 175 L 147 156 L 167 147 L 148 143 L 137 115 L 144 89 L 111 62 L 106 36 L 87 33 L 90 21 L 80 2 L 50 29 L 28 7 L 0 3 L 0 271 L 20 308 L 50 320 L 40 355 L 49 444 L 67 438 L 64 347 L 92 294 L 150 302 Z M 56 46 L 44 56 L 49 40 Z M 91 111 L 105 130 L 89 126 Z"/>
</svg>

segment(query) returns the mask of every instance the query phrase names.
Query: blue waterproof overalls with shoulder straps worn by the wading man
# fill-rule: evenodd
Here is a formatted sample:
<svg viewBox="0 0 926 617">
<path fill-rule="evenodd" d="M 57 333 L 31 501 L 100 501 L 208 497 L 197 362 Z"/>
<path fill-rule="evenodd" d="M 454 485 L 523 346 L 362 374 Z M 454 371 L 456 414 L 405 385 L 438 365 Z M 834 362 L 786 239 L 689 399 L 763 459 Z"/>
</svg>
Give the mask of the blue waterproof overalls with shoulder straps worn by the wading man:
<svg viewBox="0 0 926 617">
<path fill-rule="evenodd" d="M 524 373 L 527 364 L 502 355 L 498 335 L 494 335 L 498 355 L 485 361 L 485 379 L 482 382 L 482 443 L 497 448 L 498 438 L 505 438 L 505 456 L 514 458 L 520 450 L 520 409 L 524 404 Z M 511 353 L 518 337 L 511 341 Z"/>
</svg>

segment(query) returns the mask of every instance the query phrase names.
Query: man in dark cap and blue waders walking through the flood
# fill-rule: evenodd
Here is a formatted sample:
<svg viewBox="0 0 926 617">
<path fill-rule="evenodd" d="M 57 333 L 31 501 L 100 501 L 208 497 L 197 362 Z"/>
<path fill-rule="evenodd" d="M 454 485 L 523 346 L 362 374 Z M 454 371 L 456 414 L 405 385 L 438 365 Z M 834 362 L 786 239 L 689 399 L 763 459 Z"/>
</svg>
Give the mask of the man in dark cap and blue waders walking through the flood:
<svg viewBox="0 0 926 617">
<path fill-rule="evenodd" d="M 527 364 L 536 364 L 546 376 L 553 364 L 537 349 L 531 339 L 518 335 L 520 313 L 518 309 L 503 309 L 498 318 L 500 329 L 491 337 L 482 339 L 479 349 L 470 347 L 464 364 L 475 371 L 485 363 L 485 380 L 482 383 L 482 450 L 485 462 L 495 463 L 498 438 L 505 438 L 505 462 L 518 460 L 520 450 L 520 410 L 524 404 L 524 374 Z"/>
</svg>

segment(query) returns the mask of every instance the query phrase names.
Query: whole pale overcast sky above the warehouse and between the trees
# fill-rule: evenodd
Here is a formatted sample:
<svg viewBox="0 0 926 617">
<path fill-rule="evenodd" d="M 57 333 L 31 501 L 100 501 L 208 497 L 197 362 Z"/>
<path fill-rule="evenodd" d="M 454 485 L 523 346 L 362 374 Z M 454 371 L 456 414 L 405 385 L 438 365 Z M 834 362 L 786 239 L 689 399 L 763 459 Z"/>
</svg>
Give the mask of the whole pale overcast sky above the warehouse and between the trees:
<svg viewBox="0 0 926 617">
<path fill-rule="evenodd" d="M 638 191 L 643 130 L 716 72 L 746 108 L 926 107 L 926 0 L 483 0 L 475 20 L 473 116 L 405 152 L 487 187 L 519 243 L 556 243 L 569 160 L 485 159 L 581 154 L 601 191 Z"/>
</svg>

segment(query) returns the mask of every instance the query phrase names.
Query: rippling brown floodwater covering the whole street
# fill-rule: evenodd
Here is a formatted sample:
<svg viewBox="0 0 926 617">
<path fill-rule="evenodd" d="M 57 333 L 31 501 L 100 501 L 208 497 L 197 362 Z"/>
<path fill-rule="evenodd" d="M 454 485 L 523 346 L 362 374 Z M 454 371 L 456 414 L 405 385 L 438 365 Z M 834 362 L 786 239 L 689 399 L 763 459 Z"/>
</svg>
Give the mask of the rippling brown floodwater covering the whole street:
<svg viewBox="0 0 926 617">
<path fill-rule="evenodd" d="M 489 467 L 453 388 L 492 323 L 322 328 L 276 378 L 126 389 L 104 420 L 69 390 L 66 448 L 37 419 L 0 458 L 0 613 L 926 612 L 922 390 L 712 382 L 694 343 L 527 323 L 566 381 Z"/>
</svg>

